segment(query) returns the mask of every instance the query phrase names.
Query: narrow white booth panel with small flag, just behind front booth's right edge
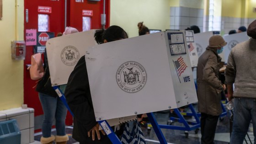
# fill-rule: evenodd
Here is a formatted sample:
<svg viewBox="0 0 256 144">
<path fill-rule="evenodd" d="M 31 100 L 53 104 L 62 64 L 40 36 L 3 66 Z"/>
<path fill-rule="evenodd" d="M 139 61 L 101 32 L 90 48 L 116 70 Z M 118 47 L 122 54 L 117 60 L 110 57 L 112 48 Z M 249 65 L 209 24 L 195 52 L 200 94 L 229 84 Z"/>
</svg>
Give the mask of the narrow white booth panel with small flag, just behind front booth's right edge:
<svg viewBox="0 0 256 144">
<path fill-rule="evenodd" d="M 194 31 L 185 31 L 185 34 L 187 39 L 187 47 L 188 47 L 191 66 L 197 67 L 198 55 L 197 55 L 196 41 L 194 38 Z"/>
</svg>

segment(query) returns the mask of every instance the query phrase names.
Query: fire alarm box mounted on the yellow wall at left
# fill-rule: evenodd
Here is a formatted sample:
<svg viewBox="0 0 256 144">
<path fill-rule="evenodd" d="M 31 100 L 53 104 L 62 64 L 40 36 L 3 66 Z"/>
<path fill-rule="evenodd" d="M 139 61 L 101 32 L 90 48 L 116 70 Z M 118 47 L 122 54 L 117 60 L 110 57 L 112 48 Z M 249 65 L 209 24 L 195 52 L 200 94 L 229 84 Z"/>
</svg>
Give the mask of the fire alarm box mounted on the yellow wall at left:
<svg viewBox="0 0 256 144">
<path fill-rule="evenodd" d="M 25 41 L 12 41 L 11 42 L 11 58 L 16 60 L 25 59 L 26 43 Z"/>
</svg>

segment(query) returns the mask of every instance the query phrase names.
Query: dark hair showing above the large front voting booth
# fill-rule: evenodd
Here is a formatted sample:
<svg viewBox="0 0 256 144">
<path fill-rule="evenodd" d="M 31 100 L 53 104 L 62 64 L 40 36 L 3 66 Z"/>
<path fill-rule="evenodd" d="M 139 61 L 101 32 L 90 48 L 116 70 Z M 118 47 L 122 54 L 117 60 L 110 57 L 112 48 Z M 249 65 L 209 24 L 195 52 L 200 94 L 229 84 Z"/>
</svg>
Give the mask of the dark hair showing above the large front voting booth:
<svg viewBox="0 0 256 144">
<path fill-rule="evenodd" d="M 119 26 L 111 26 L 106 30 L 97 30 L 94 34 L 94 38 L 98 44 L 101 44 L 104 43 L 104 39 L 106 39 L 107 42 L 112 42 L 121 38 L 128 38 L 128 34 Z"/>
</svg>

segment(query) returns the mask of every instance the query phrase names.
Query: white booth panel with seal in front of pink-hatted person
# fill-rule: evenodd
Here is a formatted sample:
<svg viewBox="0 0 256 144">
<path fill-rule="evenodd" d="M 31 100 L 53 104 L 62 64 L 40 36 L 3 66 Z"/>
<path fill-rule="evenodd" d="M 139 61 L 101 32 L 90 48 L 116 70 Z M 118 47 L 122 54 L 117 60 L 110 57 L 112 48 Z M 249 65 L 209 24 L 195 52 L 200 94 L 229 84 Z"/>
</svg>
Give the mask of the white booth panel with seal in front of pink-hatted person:
<svg viewBox="0 0 256 144">
<path fill-rule="evenodd" d="M 96 30 L 78 32 L 47 41 L 46 50 L 52 86 L 65 85 L 76 63 L 86 50 L 96 45 Z"/>
</svg>

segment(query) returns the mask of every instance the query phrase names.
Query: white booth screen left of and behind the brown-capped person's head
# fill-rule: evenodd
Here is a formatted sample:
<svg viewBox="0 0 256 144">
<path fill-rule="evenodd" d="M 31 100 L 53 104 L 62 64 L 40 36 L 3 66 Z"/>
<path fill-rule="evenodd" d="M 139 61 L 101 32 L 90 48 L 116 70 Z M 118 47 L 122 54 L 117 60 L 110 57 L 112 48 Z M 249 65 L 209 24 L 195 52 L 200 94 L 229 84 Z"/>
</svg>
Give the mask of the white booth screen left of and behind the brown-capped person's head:
<svg viewBox="0 0 256 144">
<path fill-rule="evenodd" d="M 220 35 L 219 31 L 211 31 L 211 32 L 202 32 L 202 33 L 196 33 L 195 39 L 197 41 L 197 54 L 198 58 L 205 52 L 206 48 L 209 45 L 209 39 L 212 36 Z M 224 52 L 220 53 L 219 56 L 222 58 L 221 61 L 225 62 Z"/>
</svg>

